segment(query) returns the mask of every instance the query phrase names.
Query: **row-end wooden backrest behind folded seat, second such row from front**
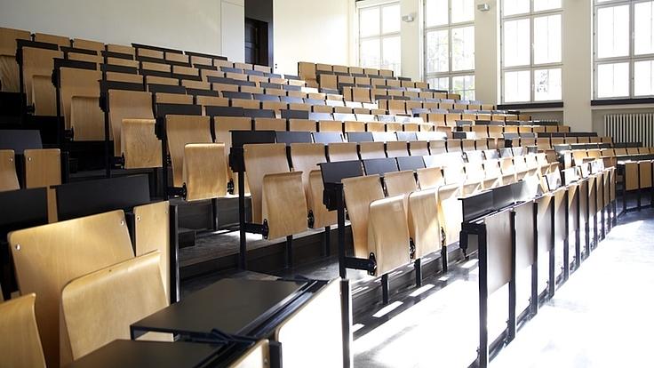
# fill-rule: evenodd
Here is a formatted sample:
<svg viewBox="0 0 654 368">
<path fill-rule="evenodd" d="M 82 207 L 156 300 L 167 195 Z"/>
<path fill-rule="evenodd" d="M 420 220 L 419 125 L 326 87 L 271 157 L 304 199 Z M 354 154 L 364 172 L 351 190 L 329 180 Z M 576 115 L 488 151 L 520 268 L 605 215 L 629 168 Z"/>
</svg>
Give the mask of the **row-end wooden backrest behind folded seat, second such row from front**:
<svg viewBox="0 0 654 368">
<path fill-rule="evenodd" d="M 262 215 L 264 177 L 267 174 L 289 172 L 286 145 L 283 143 L 243 145 L 243 159 L 252 199 L 252 222 L 262 224 L 264 220 Z M 301 176 L 299 182 L 299 192 L 303 193 Z M 307 204 L 304 204 L 305 210 L 306 207 Z"/>
</svg>

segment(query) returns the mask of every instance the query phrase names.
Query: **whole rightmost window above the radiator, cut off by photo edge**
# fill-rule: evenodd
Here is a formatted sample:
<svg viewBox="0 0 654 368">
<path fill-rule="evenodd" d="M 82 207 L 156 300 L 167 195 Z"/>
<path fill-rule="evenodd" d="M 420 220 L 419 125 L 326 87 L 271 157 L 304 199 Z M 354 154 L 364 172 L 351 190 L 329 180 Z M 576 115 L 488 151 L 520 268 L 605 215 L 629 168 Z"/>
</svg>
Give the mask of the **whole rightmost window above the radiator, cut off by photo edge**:
<svg viewBox="0 0 654 368">
<path fill-rule="evenodd" d="M 595 0 L 594 98 L 654 96 L 654 1 Z"/>
</svg>

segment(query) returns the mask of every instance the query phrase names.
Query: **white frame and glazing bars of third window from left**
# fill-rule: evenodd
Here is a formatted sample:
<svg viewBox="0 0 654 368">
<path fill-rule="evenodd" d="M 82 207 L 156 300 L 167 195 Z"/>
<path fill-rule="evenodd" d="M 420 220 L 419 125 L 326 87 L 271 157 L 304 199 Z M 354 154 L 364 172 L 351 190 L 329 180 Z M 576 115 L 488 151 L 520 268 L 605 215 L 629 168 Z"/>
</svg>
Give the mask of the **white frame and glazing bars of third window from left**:
<svg viewBox="0 0 654 368">
<path fill-rule="evenodd" d="M 565 0 L 562 0 L 562 2 Z M 529 12 L 521 12 L 518 14 L 504 15 L 504 0 L 500 5 L 500 18 L 499 18 L 499 84 L 500 84 L 500 100 L 502 104 L 516 105 L 516 104 L 539 104 L 539 103 L 552 103 L 552 102 L 562 102 L 563 100 L 563 85 L 561 85 L 561 99 L 558 100 L 536 100 L 536 72 L 537 70 L 542 69 L 561 69 L 561 82 L 563 81 L 563 74 L 565 70 L 563 69 L 563 21 L 565 14 L 563 14 L 563 4 L 561 7 L 554 9 L 546 9 L 542 11 L 534 11 L 534 0 L 529 0 L 530 10 Z M 558 62 L 547 62 L 537 64 L 534 62 L 534 20 L 536 18 L 551 16 L 551 15 L 560 15 L 561 16 L 561 61 Z M 511 20 L 529 20 L 530 24 L 530 62 L 529 64 L 505 67 L 505 56 L 504 56 L 504 45 L 506 43 L 504 39 L 504 29 L 506 21 Z M 506 91 L 505 91 L 505 73 L 506 72 L 517 72 L 517 71 L 529 71 L 530 72 L 530 99 L 526 101 L 506 101 Z M 561 83 L 562 84 L 562 83 Z"/>
</svg>

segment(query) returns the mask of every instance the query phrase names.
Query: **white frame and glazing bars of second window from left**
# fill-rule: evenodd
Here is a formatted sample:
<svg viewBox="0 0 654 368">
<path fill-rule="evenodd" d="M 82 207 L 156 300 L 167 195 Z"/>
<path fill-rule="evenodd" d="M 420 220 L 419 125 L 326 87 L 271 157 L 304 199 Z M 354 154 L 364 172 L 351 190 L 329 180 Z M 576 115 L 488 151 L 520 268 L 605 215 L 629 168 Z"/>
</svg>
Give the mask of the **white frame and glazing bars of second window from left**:
<svg viewBox="0 0 654 368">
<path fill-rule="evenodd" d="M 473 16 L 473 20 L 466 20 L 466 21 L 460 21 L 457 23 L 452 23 L 452 2 L 453 1 L 460 1 L 460 0 L 447 0 L 448 4 L 448 16 L 447 16 L 447 23 L 446 24 L 441 24 L 438 26 L 429 26 L 427 27 L 427 0 L 423 1 L 422 3 L 422 8 L 423 8 L 423 13 L 425 16 L 423 17 L 422 20 L 422 27 L 423 27 L 423 35 L 422 35 L 422 43 L 423 43 L 423 50 L 424 52 L 424 62 L 423 62 L 423 76 L 425 76 L 425 82 L 427 82 L 430 79 L 440 79 L 440 78 L 448 78 L 448 92 L 454 92 L 452 89 L 454 86 L 454 78 L 455 77 L 465 77 L 465 76 L 472 76 L 475 78 L 475 60 L 473 59 L 473 68 L 472 69 L 464 69 L 464 70 L 456 70 L 454 71 L 452 69 L 453 67 L 453 52 L 452 52 L 452 29 L 455 28 L 467 28 L 467 27 L 472 27 L 473 31 L 475 31 L 475 17 Z M 473 12 L 475 14 L 475 12 Z M 428 63 L 427 63 L 427 33 L 429 32 L 434 32 L 434 31 L 443 31 L 447 30 L 447 39 L 448 39 L 448 71 L 447 72 L 429 72 L 428 71 Z M 476 40 L 475 40 L 476 43 Z M 476 78 L 475 78 L 476 79 Z M 463 92 L 465 91 L 472 91 L 475 94 L 476 98 L 476 80 L 475 80 L 475 88 L 472 90 L 464 90 L 461 91 L 461 99 L 464 99 L 464 94 Z"/>
</svg>

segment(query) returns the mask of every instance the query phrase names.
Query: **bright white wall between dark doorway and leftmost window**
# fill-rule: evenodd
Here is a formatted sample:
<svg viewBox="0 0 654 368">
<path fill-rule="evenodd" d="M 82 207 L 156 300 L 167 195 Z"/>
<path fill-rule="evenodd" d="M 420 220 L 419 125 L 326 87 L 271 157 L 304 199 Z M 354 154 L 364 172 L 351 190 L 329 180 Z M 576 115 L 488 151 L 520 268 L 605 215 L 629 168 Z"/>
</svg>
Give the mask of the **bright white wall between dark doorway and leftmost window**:
<svg viewBox="0 0 654 368">
<path fill-rule="evenodd" d="M 298 74 L 298 61 L 349 64 L 347 0 L 274 0 L 275 71 Z"/>
</svg>

